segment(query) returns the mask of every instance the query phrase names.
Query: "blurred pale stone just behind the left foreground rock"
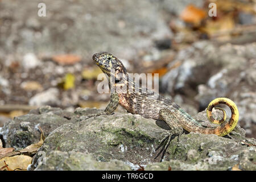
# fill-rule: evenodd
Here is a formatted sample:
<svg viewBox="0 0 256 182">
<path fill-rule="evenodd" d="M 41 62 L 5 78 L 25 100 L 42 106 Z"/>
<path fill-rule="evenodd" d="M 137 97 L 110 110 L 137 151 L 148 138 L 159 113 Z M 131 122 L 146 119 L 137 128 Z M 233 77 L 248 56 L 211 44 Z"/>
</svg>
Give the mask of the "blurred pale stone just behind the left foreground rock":
<svg viewBox="0 0 256 182">
<path fill-rule="evenodd" d="M 28 102 L 31 106 L 57 105 L 59 103 L 59 90 L 49 88 L 48 90 L 33 96 Z"/>
</svg>

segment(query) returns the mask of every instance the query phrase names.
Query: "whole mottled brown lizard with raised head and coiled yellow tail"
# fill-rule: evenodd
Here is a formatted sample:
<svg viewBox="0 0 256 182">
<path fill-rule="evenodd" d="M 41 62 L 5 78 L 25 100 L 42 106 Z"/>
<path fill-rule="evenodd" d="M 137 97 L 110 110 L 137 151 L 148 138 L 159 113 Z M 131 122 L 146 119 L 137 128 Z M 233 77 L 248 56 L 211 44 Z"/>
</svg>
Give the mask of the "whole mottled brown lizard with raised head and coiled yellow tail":
<svg viewBox="0 0 256 182">
<path fill-rule="evenodd" d="M 93 60 L 105 73 L 109 80 L 110 87 L 110 102 L 106 109 L 98 114 L 89 115 L 87 118 L 96 117 L 99 115 L 114 114 L 114 110 L 118 105 L 121 105 L 129 113 L 139 114 L 144 118 L 152 118 L 155 120 L 164 121 L 170 127 L 167 135 L 160 140 L 159 146 L 155 151 L 158 151 L 161 146 L 162 150 L 156 155 L 155 159 L 162 153 L 161 161 L 172 139 L 179 138 L 184 130 L 188 132 L 197 132 L 202 134 L 216 134 L 220 137 L 229 134 L 238 122 L 238 109 L 236 104 L 229 98 L 216 98 L 207 107 L 207 116 L 210 122 L 216 123 L 216 126 L 205 126 L 203 121 L 192 118 L 171 98 L 166 98 L 152 90 L 147 90 L 141 86 L 135 85 L 133 79 L 129 78 L 126 68 L 122 62 L 108 52 L 94 53 Z M 114 89 L 113 89 L 114 88 Z M 128 89 L 129 88 L 129 89 Z M 218 104 L 225 104 L 231 110 L 229 121 L 226 120 L 226 112 Z M 213 118 L 212 109 L 219 109 L 223 112 L 224 117 L 221 120 Z"/>
</svg>

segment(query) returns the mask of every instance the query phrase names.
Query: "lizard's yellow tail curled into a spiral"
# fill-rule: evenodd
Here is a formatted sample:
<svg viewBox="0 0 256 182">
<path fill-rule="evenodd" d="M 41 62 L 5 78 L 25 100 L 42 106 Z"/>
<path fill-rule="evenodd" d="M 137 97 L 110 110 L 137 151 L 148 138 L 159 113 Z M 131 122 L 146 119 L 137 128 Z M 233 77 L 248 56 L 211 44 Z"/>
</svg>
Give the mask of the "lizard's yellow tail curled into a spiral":
<svg viewBox="0 0 256 182">
<path fill-rule="evenodd" d="M 207 107 L 207 116 L 208 116 L 210 122 L 222 124 L 226 120 L 226 112 L 224 109 L 222 109 L 220 107 L 216 107 L 215 109 L 221 110 L 224 114 L 224 117 L 220 121 L 213 118 L 212 109 L 217 104 L 225 104 L 225 105 L 229 106 L 231 113 L 232 113 L 228 123 L 226 123 L 225 125 L 221 125 L 220 127 L 217 127 L 214 130 L 214 134 L 222 137 L 224 135 L 229 134 L 234 129 L 234 127 L 236 127 L 238 118 L 239 118 L 239 113 L 238 113 L 236 104 L 234 104 L 234 102 L 232 100 L 230 100 L 229 98 L 224 98 L 224 97 L 216 98 L 212 102 L 210 102 L 210 104 Z"/>
</svg>

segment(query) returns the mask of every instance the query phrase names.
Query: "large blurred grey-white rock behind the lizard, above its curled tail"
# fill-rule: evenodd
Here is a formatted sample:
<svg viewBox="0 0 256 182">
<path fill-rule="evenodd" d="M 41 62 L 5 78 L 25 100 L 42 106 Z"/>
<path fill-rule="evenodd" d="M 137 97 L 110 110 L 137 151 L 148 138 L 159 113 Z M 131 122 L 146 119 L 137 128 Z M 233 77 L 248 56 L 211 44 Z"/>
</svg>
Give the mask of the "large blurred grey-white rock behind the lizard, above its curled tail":
<svg viewBox="0 0 256 182">
<path fill-rule="evenodd" d="M 217 46 L 208 41 L 196 42 L 192 47 L 177 53 L 175 60 L 170 63 L 170 67 L 180 61 L 182 64 L 163 77 L 161 86 L 167 88 L 168 92 L 171 93 L 174 90 L 185 90 L 184 92 L 188 93 L 193 90 L 192 86 L 195 87 L 195 85 L 206 84 L 207 82 L 209 82 L 209 86 L 215 88 L 218 86 L 216 81 L 219 82 L 224 75 L 248 68 L 249 60 L 254 59 L 255 51 L 253 48 L 255 49 L 255 47 L 255 43 L 245 46 L 232 46 L 230 44 Z M 234 78 L 230 77 L 227 81 L 229 83 L 233 80 Z"/>
</svg>

